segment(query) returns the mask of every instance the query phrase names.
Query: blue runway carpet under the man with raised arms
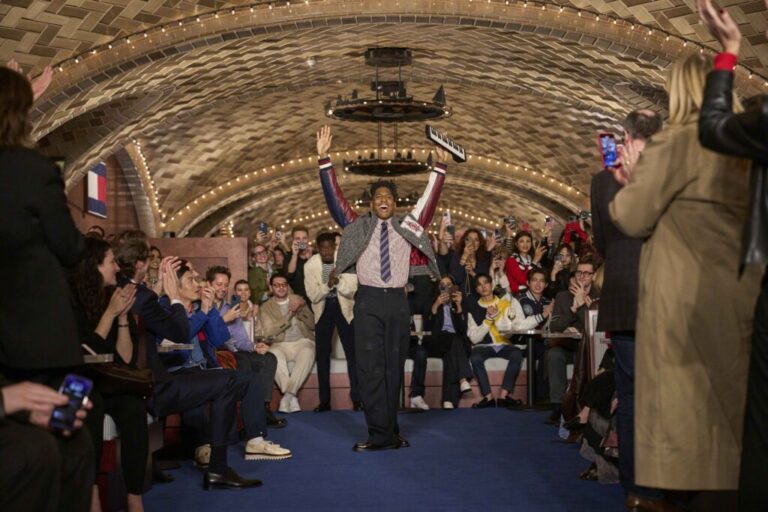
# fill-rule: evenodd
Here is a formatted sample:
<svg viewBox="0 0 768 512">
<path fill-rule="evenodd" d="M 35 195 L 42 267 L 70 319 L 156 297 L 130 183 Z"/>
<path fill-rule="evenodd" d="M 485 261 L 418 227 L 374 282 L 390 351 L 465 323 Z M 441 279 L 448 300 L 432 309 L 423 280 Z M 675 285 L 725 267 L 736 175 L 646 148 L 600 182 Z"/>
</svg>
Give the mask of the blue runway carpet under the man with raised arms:
<svg viewBox="0 0 768 512">
<path fill-rule="evenodd" d="M 148 511 L 620 511 L 618 485 L 579 480 L 586 469 L 575 445 L 544 425 L 546 412 L 457 409 L 400 415 L 411 447 L 355 453 L 365 438 L 362 413 L 288 415 L 270 432 L 290 448 L 286 461 L 246 462 L 242 445 L 230 465 L 264 481 L 249 490 L 203 491 L 202 473 L 185 462 L 176 481 L 155 485 Z"/>
</svg>

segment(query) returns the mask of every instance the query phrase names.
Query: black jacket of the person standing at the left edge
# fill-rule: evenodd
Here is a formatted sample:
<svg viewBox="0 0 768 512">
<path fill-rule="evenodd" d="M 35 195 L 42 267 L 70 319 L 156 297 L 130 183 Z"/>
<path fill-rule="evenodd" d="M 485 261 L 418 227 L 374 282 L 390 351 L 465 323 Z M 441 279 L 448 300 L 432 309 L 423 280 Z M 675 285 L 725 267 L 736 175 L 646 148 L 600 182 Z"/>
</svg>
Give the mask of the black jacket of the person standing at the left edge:
<svg viewBox="0 0 768 512">
<path fill-rule="evenodd" d="M 0 367 L 77 366 L 83 356 L 63 266 L 83 250 L 53 162 L 31 149 L 0 151 Z"/>
</svg>

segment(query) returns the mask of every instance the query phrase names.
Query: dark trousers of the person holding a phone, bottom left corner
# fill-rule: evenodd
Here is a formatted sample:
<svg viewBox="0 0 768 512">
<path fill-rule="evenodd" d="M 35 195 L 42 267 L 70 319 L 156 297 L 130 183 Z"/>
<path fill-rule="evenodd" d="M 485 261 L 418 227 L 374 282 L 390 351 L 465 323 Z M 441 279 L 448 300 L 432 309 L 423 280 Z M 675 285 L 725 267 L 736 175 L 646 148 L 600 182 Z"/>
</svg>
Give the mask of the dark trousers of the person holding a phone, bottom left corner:
<svg viewBox="0 0 768 512">
<path fill-rule="evenodd" d="M 28 424 L 0 423 L 0 510 L 87 512 L 93 460 L 87 427 L 64 438 Z"/>
</svg>

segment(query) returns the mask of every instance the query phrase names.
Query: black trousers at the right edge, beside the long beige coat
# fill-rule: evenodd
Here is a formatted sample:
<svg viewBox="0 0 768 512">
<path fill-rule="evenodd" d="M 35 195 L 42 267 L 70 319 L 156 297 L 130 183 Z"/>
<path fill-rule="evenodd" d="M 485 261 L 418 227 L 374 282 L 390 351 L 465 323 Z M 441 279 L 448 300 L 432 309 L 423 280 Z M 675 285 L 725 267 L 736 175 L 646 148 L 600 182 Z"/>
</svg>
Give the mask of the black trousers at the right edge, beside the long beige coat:
<svg viewBox="0 0 768 512">
<path fill-rule="evenodd" d="M 768 276 L 755 309 L 739 477 L 739 511 L 768 510 Z"/>
</svg>

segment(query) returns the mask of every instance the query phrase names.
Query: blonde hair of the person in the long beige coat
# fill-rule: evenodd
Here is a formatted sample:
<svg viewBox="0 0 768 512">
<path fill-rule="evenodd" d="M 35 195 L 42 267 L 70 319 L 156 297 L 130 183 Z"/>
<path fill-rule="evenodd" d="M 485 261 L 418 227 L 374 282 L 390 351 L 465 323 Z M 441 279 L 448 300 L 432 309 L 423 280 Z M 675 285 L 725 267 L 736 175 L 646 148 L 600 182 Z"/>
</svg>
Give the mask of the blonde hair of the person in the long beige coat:
<svg viewBox="0 0 768 512">
<path fill-rule="evenodd" d="M 669 124 L 685 124 L 699 118 L 704 102 L 704 85 L 707 73 L 712 70 L 712 60 L 691 53 L 675 61 L 667 78 L 669 94 Z M 743 110 L 736 93 L 733 94 L 733 111 Z"/>
</svg>

